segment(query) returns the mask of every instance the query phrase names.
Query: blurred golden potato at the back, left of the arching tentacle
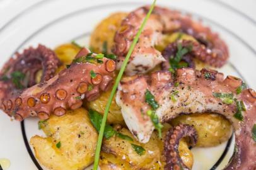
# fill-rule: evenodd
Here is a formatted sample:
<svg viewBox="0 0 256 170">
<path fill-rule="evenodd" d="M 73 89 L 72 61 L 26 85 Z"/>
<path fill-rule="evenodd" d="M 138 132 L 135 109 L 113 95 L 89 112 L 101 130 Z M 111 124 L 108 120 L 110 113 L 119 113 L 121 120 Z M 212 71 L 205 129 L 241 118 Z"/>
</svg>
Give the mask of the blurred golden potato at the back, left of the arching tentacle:
<svg viewBox="0 0 256 170">
<path fill-rule="evenodd" d="M 127 16 L 127 13 L 113 13 L 102 20 L 91 33 L 90 47 L 95 53 L 103 52 L 103 43 L 107 42 L 107 52 L 112 53 L 113 37 L 119 29 L 122 20 Z"/>
</svg>

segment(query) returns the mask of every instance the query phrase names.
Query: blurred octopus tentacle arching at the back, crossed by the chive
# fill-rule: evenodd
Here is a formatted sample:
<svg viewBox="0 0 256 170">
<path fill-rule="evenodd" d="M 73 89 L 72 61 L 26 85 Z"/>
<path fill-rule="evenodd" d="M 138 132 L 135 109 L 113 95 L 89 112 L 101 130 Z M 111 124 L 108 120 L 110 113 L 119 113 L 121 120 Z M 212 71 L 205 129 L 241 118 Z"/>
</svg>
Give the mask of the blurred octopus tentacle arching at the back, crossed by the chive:
<svg viewBox="0 0 256 170">
<path fill-rule="evenodd" d="M 113 53 L 118 56 L 117 69 L 120 69 L 148 10 L 149 7 L 144 6 L 129 13 L 115 34 Z M 203 26 L 200 22 L 192 21 L 190 16 L 156 6 L 132 52 L 125 74 L 128 76 L 143 74 L 157 64 L 165 62 L 166 57 L 163 57 L 161 52 L 154 48 L 154 45 L 162 40 L 164 33 L 175 31 L 187 33 L 197 40 L 196 46 L 202 52 L 197 57 L 199 60 L 214 67 L 221 67 L 226 63 L 229 57 L 228 47 L 218 34 L 212 33 L 210 28 Z"/>
</svg>

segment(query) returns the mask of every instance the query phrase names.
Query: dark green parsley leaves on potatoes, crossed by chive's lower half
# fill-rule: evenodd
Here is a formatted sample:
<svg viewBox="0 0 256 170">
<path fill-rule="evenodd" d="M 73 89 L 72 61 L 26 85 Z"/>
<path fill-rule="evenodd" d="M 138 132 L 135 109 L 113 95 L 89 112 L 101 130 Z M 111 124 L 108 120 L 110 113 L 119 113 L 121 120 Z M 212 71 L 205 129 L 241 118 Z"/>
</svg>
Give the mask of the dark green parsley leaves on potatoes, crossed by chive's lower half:
<svg viewBox="0 0 256 170">
<path fill-rule="evenodd" d="M 90 109 L 89 116 L 90 116 L 91 123 L 93 124 L 93 127 L 96 128 L 97 132 L 100 132 L 100 126 L 102 125 L 102 115 L 100 115 L 100 113 L 98 113 L 98 111 Z M 113 137 L 113 135 L 116 135 L 120 139 L 133 141 L 133 139 L 131 137 L 117 132 L 116 130 L 113 129 L 112 126 L 110 126 L 108 124 L 105 125 L 105 130 L 103 132 L 103 135 L 106 139 L 110 139 L 110 137 Z"/>
</svg>

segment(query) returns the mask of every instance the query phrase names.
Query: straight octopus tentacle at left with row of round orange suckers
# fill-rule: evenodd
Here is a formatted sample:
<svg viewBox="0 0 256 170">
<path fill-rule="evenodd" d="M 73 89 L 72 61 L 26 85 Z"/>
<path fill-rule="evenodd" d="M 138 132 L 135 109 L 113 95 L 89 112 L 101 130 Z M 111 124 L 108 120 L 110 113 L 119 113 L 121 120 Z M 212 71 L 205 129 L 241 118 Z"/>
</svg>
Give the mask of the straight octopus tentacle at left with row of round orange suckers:
<svg viewBox="0 0 256 170">
<path fill-rule="evenodd" d="M 90 50 L 82 48 L 76 59 L 82 59 Z M 96 54 L 92 54 L 95 57 Z M 115 61 L 103 58 L 102 63 L 93 60 L 89 62 L 73 62 L 48 81 L 35 84 L 30 88 L 11 91 L 2 98 L 1 109 L 16 120 L 28 116 L 38 116 L 45 120 L 50 114 L 61 116 L 70 108 L 81 107 L 82 100 L 94 100 L 100 96 L 100 91 L 107 91 L 112 86 Z M 95 75 L 91 76 L 91 72 Z"/>
</svg>

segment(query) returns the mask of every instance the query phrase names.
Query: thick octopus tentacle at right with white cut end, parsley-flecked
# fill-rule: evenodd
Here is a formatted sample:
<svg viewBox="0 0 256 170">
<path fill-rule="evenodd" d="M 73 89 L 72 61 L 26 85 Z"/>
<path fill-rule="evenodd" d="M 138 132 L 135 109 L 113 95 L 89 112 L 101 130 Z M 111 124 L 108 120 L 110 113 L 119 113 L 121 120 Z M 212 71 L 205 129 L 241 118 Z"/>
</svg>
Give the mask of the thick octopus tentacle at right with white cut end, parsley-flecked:
<svg viewBox="0 0 256 170">
<path fill-rule="evenodd" d="M 148 89 L 159 108 L 155 114 L 160 122 L 168 122 L 182 113 L 218 113 L 233 125 L 236 152 L 226 169 L 256 168 L 256 142 L 253 126 L 256 124 L 256 93 L 253 89 L 241 88 L 241 79 L 217 71 L 196 71 L 192 68 L 177 69 L 176 77 L 171 72 L 153 72 L 151 76 L 134 76 L 120 82 L 117 104 L 129 130 L 139 142 L 148 142 L 154 125 L 146 114 L 151 109 L 145 101 Z M 229 102 L 216 94 L 228 94 Z M 175 98 L 175 99 L 173 99 Z M 239 105 L 238 105 L 239 104 Z M 241 111 L 241 105 L 244 106 Z M 240 108 L 240 111 L 239 111 Z"/>
</svg>

